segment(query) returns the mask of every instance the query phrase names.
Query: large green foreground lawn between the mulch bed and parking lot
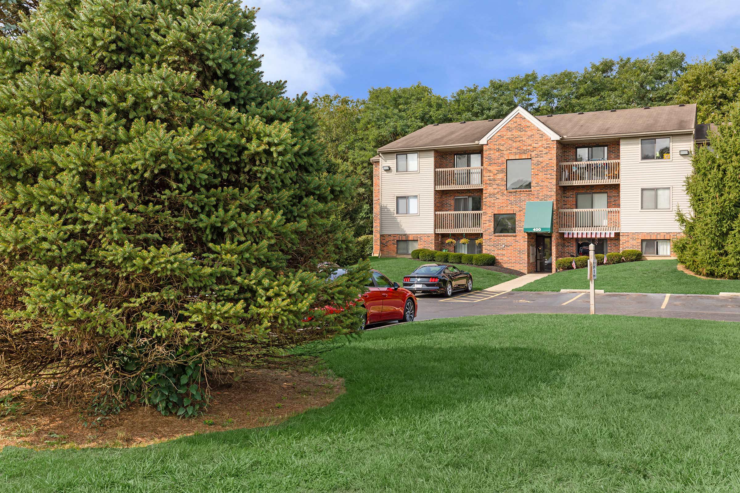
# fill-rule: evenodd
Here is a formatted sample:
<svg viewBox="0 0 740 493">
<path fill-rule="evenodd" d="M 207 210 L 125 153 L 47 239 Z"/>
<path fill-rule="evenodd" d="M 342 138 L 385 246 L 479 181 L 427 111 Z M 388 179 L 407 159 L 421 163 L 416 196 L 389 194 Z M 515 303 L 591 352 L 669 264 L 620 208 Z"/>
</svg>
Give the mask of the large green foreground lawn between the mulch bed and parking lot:
<svg viewBox="0 0 740 493">
<path fill-rule="evenodd" d="M 414 322 L 326 354 L 347 392 L 278 426 L 0 454 L 1 492 L 736 492 L 730 322 Z"/>
</svg>

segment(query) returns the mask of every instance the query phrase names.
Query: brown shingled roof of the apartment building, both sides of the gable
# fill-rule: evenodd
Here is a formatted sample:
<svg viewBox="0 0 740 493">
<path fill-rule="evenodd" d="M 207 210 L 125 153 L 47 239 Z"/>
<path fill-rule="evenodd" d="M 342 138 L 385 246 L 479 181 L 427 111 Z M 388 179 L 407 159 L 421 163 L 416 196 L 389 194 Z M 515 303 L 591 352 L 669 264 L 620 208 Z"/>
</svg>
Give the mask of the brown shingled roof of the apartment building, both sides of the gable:
<svg viewBox="0 0 740 493">
<path fill-rule="evenodd" d="M 679 130 L 691 132 L 696 125 L 696 104 L 543 115 L 536 118 L 557 135 L 567 139 Z M 427 125 L 378 151 L 474 145 L 500 121 L 478 120 Z"/>
</svg>

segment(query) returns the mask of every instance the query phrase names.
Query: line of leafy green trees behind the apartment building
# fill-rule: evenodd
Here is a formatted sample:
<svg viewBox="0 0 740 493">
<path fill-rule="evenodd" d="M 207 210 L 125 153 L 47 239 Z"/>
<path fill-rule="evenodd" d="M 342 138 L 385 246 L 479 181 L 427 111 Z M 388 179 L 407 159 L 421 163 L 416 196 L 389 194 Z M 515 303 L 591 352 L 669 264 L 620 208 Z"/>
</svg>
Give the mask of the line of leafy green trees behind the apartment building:
<svg viewBox="0 0 740 493">
<path fill-rule="evenodd" d="M 377 148 L 430 123 L 503 118 L 517 105 L 547 115 L 694 102 L 699 123 L 718 123 L 727 119 L 739 94 L 740 50 L 733 47 L 693 62 L 679 51 L 605 58 L 581 72 L 529 72 L 492 79 L 487 86 L 466 86 L 449 96 L 418 83 L 374 87 L 361 99 L 316 95 L 313 103 L 329 172 L 350 177 L 354 188 L 338 214 L 359 237 L 372 233 L 370 158 Z"/>
</svg>

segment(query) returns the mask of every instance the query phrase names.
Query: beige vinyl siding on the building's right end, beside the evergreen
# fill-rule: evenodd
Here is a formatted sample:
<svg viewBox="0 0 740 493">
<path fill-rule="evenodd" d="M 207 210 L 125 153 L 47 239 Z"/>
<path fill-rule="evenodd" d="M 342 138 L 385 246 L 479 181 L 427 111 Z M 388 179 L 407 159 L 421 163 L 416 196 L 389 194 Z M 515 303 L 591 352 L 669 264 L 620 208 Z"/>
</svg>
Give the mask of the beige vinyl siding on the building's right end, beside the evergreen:
<svg viewBox="0 0 740 493">
<path fill-rule="evenodd" d="M 659 136 L 661 137 L 661 136 Z M 671 233 L 681 231 L 676 222 L 676 210 L 689 211 L 684 180 L 691 173 L 693 135 L 665 135 L 670 137 L 670 160 L 641 160 L 640 137 L 620 141 L 620 215 L 621 230 L 625 233 Z M 652 137 L 650 137 L 652 138 Z M 686 149 L 688 156 L 679 155 Z M 670 188 L 670 210 L 641 210 L 642 188 Z"/>
</svg>

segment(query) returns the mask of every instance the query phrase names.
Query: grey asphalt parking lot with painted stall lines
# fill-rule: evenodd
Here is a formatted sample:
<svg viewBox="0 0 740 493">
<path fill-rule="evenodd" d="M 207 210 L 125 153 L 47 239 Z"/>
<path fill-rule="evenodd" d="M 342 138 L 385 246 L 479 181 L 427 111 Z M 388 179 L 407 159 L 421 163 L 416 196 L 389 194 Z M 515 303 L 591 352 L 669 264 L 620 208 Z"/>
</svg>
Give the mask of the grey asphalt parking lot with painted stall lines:
<svg viewBox="0 0 740 493">
<path fill-rule="evenodd" d="M 588 293 L 474 291 L 418 296 L 417 320 L 505 313 L 588 313 Z M 740 322 L 740 297 L 699 294 L 596 294 L 596 313 Z"/>
</svg>

